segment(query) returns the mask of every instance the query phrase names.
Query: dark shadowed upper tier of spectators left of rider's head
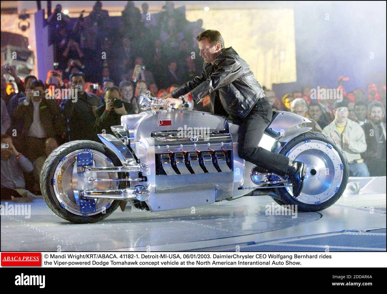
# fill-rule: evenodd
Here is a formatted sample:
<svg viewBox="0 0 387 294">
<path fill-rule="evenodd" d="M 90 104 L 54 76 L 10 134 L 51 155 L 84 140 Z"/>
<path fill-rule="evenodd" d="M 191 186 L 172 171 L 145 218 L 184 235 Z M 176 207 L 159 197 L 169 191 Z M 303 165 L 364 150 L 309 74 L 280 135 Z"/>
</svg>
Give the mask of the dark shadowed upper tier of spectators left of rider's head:
<svg viewBox="0 0 387 294">
<path fill-rule="evenodd" d="M 140 12 L 128 1 L 119 21 L 110 20 L 100 1 L 89 15 L 82 13 L 76 21 L 62 13 L 60 4 L 55 7 L 47 23 L 55 69 L 63 80 L 82 71 L 86 81 L 99 88 L 107 79 L 115 85 L 143 80 L 150 90 L 182 84 L 201 72 L 195 37 L 204 31 L 202 21 L 188 22 L 173 2 L 166 1 L 163 11 L 151 14 L 147 3 Z"/>
</svg>

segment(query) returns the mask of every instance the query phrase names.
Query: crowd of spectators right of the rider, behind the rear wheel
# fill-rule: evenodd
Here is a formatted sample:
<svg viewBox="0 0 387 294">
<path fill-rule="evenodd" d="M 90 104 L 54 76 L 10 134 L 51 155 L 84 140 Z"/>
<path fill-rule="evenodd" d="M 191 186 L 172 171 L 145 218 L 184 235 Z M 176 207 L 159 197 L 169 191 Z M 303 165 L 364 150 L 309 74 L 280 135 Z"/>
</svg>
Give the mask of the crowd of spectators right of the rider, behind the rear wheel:
<svg viewBox="0 0 387 294">
<path fill-rule="evenodd" d="M 291 111 L 307 117 L 311 122 L 298 127 L 310 127 L 312 132 L 321 132 L 332 138 L 344 151 L 349 163 L 350 176 L 386 175 L 386 86 L 375 83 L 366 87 L 366 92 L 356 88 L 346 93 L 339 77 L 334 89 L 319 87 L 326 96 L 312 97 L 312 85 L 304 85 L 301 91 L 285 94 L 282 99 L 265 89 L 272 101 L 274 111 Z M 317 88 L 317 87 L 316 87 Z M 342 96 L 330 97 L 333 91 Z"/>
</svg>

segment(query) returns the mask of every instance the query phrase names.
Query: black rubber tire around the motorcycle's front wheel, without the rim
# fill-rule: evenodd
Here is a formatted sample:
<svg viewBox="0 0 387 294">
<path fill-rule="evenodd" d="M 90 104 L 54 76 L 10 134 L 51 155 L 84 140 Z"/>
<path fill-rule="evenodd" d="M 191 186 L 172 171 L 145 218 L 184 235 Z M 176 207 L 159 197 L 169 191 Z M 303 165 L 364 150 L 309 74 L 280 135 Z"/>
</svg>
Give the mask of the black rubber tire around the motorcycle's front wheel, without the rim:
<svg viewBox="0 0 387 294">
<path fill-rule="evenodd" d="M 104 212 L 82 216 L 70 212 L 68 209 L 63 207 L 63 202 L 61 205 L 58 201 L 53 184 L 55 170 L 65 156 L 68 156 L 68 154 L 77 150 L 83 151 L 84 149 L 100 152 L 108 157 L 115 166 L 121 165 L 116 155 L 103 144 L 88 140 L 77 140 L 60 145 L 57 149 L 55 149 L 47 157 L 40 174 L 40 188 L 48 207 L 50 207 L 56 215 L 75 224 L 86 224 L 101 221 L 116 210 L 120 203 L 119 200 L 114 200 L 110 206 L 104 210 Z"/>
</svg>

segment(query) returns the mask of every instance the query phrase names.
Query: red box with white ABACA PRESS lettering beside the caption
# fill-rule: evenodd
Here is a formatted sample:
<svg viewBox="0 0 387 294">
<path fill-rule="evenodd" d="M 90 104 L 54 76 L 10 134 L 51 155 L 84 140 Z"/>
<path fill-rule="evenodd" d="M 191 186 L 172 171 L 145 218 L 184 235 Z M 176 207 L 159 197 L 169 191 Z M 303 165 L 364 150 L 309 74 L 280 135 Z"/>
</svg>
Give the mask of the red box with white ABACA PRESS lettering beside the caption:
<svg viewBox="0 0 387 294">
<path fill-rule="evenodd" d="M 2 252 L 2 267 L 40 267 L 42 265 L 42 254 L 40 252 Z"/>
</svg>

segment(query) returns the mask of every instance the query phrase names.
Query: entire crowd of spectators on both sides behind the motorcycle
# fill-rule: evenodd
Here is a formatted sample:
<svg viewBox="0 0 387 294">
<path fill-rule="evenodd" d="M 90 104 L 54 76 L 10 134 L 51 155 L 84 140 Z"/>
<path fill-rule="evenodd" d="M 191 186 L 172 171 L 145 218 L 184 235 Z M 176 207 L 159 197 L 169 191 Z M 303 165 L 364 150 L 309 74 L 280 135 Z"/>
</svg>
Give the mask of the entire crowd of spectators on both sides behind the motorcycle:
<svg viewBox="0 0 387 294">
<path fill-rule="evenodd" d="M 97 134 L 112 133 L 110 126 L 120 125 L 122 115 L 142 111 L 141 94 L 164 97 L 199 75 L 203 66 L 195 41 L 203 30 L 202 22 L 185 20 L 173 2 L 166 1 L 163 11 L 154 17 L 148 14 L 147 3 L 141 13 L 129 1 L 120 29 L 110 27 L 108 13 L 99 1 L 73 27 L 61 10 L 57 5 L 47 19 L 56 68 L 48 72 L 45 82 L 33 75 L 22 81 L 13 68 L 2 67 L 2 199 L 39 195 L 41 168 L 58 145 L 71 140 L 98 141 Z M 62 15 L 60 20 L 57 14 Z M 101 58 L 101 53 L 106 58 Z M 9 76 L 17 93 L 7 88 L 5 77 Z M 346 80 L 340 77 L 337 86 L 343 92 L 342 101 L 312 97 L 312 85 L 282 99 L 274 91 L 264 90 L 274 111 L 307 117 L 311 123 L 301 127 L 311 127 L 335 140 L 348 159 L 350 175 L 385 175 L 386 87 L 378 89 L 371 83 L 366 92 L 356 88 L 346 93 Z M 63 97 L 63 91 L 57 89 L 77 89 L 76 101 Z M 194 110 L 212 112 L 212 105 L 207 96 Z"/>
</svg>

